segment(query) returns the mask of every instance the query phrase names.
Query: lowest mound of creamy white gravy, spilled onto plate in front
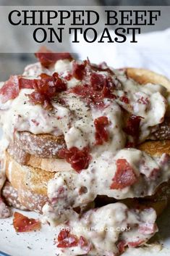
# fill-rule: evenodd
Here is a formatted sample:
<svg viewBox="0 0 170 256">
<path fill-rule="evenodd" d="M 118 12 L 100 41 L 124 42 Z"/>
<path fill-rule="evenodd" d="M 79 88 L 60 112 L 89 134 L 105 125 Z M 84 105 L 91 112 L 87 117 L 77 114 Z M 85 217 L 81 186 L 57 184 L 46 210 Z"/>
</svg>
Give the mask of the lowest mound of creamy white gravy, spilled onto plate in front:
<svg viewBox="0 0 170 256">
<path fill-rule="evenodd" d="M 156 233 L 156 212 L 153 209 L 129 210 L 122 203 L 106 205 L 97 210 L 89 210 L 81 218 L 71 218 L 68 225 L 58 226 L 58 234 L 65 229 L 77 238 L 83 236 L 84 247 L 57 248 L 59 255 L 119 255 L 116 244 L 141 244 Z M 57 244 L 57 243 L 56 243 Z"/>
</svg>

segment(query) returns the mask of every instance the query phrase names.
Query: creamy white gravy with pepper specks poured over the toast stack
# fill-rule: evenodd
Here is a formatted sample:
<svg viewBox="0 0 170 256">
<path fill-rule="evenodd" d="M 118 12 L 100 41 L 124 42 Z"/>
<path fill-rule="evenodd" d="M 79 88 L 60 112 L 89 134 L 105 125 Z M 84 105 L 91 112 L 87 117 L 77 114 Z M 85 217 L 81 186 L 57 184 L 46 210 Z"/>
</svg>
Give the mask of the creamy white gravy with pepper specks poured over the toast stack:
<svg viewBox="0 0 170 256">
<path fill-rule="evenodd" d="M 40 64 L 30 65 L 26 68 L 24 76 L 32 79 L 41 73 L 51 75 L 57 72 L 61 78 L 65 78 L 72 72 L 72 65 L 73 62 L 69 62 L 69 60 L 59 60 L 50 70 L 42 68 Z M 126 117 L 122 111 L 123 108 L 130 114 L 143 117 L 140 121 L 139 141 L 145 141 L 150 134 L 150 128 L 155 128 L 156 125 L 163 122 L 167 107 L 166 89 L 163 86 L 152 84 L 140 86 L 135 81 L 127 79 L 123 71 L 112 71 L 114 72 L 112 80 L 115 80 L 116 85 L 114 91 L 116 99 L 104 99 L 103 108 L 89 107 L 80 96 L 62 92 L 59 97 L 65 103 L 59 104 L 57 100 L 54 100 L 52 102 L 54 110 L 49 112 L 44 110 L 41 105 L 33 105 L 29 102 L 26 94 L 30 94 L 33 91 L 31 89 L 22 89 L 17 98 L 9 100 L 5 104 L 0 103 L 0 123 L 4 131 L 4 139 L 7 141 L 13 138 L 14 131 L 30 131 L 35 134 L 51 133 L 56 136 L 64 134 L 67 149 L 73 146 L 76 146 L 77 149 L 90 147 L 92 160 L 88 168 L 80 173 L 72 168 L 67 173 L 56 173 L 55 178 L 48 183 L 48 197 L 53 203 L 48 203 L 43 207 L 44 220 L 48 220 L 52 224 L 64 223 L 69 220 L 70 226 L 77 236 L 82 235 L 82 231 L 80 233 L 75 231 L 77 221 L 80 227 L 89 227 L 90 224 L 105 226 L 106 224 L 115 228 L 119 225 L 126 227 L 128 223 L 140 225 L 141 222 L 145 222 L 144 219 L 146 221 L 149 219 L 150 223 L 154 223 L 156 219 L 154 211 L 152 214 L 146 214 L 143 211 L 141 213 L 143 217 L 140 216 L 139 220 L 140 213 L 131 212 L 122 204 L 107 205 L 99 210 L 92 210 L 80 220 L 75 216 L 72 207 L 88 205 L 97 195 L 106 195 L 116 199 L 152 195 L 158 185 L 168 181 L 170 177 L 169 168 L 166 165 L 161 165 L 160 159 L 154 159 L 137 149 L 124 148 L 128 136 L 123 130 Z M 98 74 L 108 75 L 105 70 L 98 71 Z M 88 82 L 89 78 L 87 77 L 86 83 Z M 73 88 L 80 84 L 80 80 L 72 78 L 67 81 L 67 88 Z M 122 96 L 129 99 L 128 104 L 121 100 Z M 102 116 L 109 120 L 107 126 L 109 141 L 102 145 L 96 145 L 94 120 Z M 165 156 L 162 156 L 162 160 L 163 157 Z M 111 183 L 116 174 L 116 160 L 119 159 L 127 160 L 135 172 L 137 182 L 124 189 L 111 189 Z M 153 170 L 158 170 L 159 175 L 152 176 Z M 63 194 L 59 195 L 60 188 L 63 188 Z M 84 192 L 80 193 L 82 188 Z M 57 199 L 56 202 L 54 199 Z M 112 256 L 116 253 L 115 242 L 118 240 L 119 232 L 113 231 L 107 234 L 97 232 L 95 236 L 92 232 L 84 232 L 83 235 L 93 244 L 93 249 L 90 252 L 92 255 L 105 253 L 105 255 Z M 133 228 L 129 235 L 136 239 L 137 229 Z M 147 234 L 147 237 L 144 238 L 147 240 L 151 235 L 153 234 Z M 122 234 L 122 236 L 126 235 Z M 68 255 L 68 253 L 69 255 L 85 254 L 78 247 L 63 253 L 65 253 L 64 255 Z"/>
</svg>

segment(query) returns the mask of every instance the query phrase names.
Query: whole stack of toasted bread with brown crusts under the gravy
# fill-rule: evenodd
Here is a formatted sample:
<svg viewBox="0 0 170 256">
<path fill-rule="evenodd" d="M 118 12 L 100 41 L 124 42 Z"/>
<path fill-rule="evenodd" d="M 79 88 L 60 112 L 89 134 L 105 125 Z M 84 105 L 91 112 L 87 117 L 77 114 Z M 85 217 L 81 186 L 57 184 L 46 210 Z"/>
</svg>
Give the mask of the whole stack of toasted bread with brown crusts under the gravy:
<svg viewBox="0 0 170 256">
<path fill-rule="evenodd" d="M 127 68 L 127 77 L 144 86 L 145 83 L 161 84 L 170 91 L 170 82 L 161 75 L 135 68 Z M 54 178 L 56 172 L 70 171 L 71 165 L 59 159 L 58 152 L 66 148 L 64 136 L 51 134 L 33 134 L 28 131 L 17 131 L 6 152 L 7 181 L 2 195 L 7 204 L 22 210 L 42 213 L 43 205 L 48 202 L 47 184 Z M 152 133 L 148 141 L 137 146 L 152 157 L 170 154 L 170 119 L 167 110 L 163 123 Z M 73 170 L 74 171 L 74 170 Z M 169 183 L 163 183 L 156 194 L 143 199 L 123 199 L 128 206 L 134 204 L 147 205 L 160 214 L 170 199 Z M 96 199 L 96 205 L 106 202 L 116 202 L 115 199 L 101 197 Z"/>
</svg>

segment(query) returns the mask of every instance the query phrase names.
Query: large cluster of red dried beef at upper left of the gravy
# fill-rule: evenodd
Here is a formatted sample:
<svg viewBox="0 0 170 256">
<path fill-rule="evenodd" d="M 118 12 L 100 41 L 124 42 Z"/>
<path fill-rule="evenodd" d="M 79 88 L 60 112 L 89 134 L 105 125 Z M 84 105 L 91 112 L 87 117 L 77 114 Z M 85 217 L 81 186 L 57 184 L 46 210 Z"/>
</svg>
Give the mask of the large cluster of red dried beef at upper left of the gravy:
<svg viewBox="0 0 170 256">
<path fill-rule="evenodd" d="M 4 83 L 0 89 L 1 102 L 7 102 L 9 99 L 15 99 L 22 88 L 35 89 L 33 93 L 27 94 L 32 104 L 41 104 L 44 108 L 51 107 L 51 97 L 61 91 L 67 90 L 67 85 L 59 78 L 58 73 L 53 75 L 41 74 L 41 79 L 26 79 L 22 76 L 13 75 Z"/>
</svg>

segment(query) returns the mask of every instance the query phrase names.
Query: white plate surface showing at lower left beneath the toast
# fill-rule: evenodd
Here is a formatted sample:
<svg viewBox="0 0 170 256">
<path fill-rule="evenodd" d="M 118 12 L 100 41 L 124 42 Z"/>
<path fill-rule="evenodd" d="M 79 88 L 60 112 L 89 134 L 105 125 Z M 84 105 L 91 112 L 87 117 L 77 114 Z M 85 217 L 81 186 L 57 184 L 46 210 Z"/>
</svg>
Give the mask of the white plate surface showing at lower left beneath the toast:
<svg viewBox="0 0 170 256">
<path fill-rule="evenodd" d="M 30 218 L 39 217 L 35 212 L 16 211 Z M 12 218 L 0 220 L 0 251 L 12 256 L 56 256 L 55 229 L 48 225 L 42 225 L 41 231 L 16 233 L 12 225 Z"/>
</svg>

